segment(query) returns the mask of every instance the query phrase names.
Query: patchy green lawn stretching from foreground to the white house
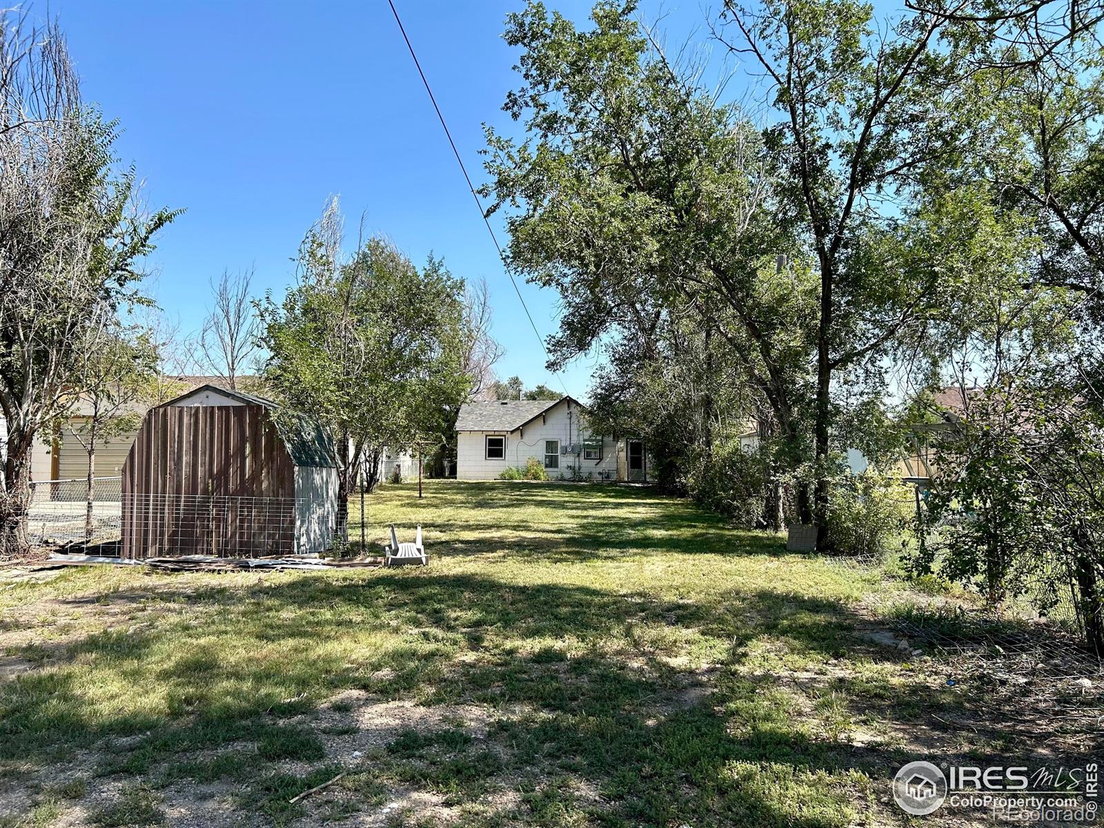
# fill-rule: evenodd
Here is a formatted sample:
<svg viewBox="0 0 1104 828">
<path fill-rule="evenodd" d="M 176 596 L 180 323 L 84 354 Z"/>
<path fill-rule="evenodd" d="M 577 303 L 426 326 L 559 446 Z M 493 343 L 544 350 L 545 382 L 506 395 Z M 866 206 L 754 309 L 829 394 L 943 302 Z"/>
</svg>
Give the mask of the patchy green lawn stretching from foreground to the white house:
<svg viewBox="0 0 1104 828">
<path fill-rule="evenodd" d="M 923 751 L 1030 750 L 864 637 L 900 583 L 640 488 L 425 492 L 367 530 L 424 569 L 0 583 L 0 825 L 884 825 Z"/>
</svg>

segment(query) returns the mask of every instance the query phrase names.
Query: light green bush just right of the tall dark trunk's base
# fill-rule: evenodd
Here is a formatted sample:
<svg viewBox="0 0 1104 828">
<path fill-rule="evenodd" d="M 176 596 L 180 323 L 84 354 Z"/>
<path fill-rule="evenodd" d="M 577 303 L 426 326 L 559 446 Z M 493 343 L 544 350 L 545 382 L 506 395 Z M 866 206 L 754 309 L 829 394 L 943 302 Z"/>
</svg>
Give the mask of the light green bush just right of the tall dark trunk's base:
<svg viewBox="0 0 1104 828">
<path fill-rule="evenodd" d="M 831 489 L 828 540 L 839 554 L 885 556 L 914 513 L 912 489 L 891 477 L 847 475 Z"/>
</svg>

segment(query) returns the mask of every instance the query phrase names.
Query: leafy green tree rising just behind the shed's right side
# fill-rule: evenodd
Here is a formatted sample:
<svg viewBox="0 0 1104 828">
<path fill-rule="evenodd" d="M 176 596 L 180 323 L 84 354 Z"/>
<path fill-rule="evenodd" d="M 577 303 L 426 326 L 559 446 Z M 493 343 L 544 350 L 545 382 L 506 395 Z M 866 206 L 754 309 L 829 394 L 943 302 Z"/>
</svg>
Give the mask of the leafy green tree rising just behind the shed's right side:
<svg viewBox="0 0 1104 828">
<path fill-rule="evenodd" d="M 342 252 L 337 202 L 302 242 L 297 284 L 259 302 L 265 383 L 335 438 L 341 527 L 357 476 L 380 453 L 447 440 L 473 379 L 465 371 L 464 283 L 439 258 L 416 267 L 382 237 Z"/>
</svg>

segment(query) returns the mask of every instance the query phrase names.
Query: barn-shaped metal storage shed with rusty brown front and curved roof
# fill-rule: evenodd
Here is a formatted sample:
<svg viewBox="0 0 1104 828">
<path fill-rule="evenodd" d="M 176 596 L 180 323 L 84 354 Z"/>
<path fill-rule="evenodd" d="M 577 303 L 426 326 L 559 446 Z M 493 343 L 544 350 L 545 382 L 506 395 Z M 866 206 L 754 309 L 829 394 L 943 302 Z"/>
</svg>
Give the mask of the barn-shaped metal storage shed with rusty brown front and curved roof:
<svg viewBox="0 0 1104 828">
<path fill-rule="evenodd" d="M 321 552 L 337 493 L 332 442 L 317 423 L 201 385 L 146 414 L 123 465 L 121 554 Z"/>
</svg>

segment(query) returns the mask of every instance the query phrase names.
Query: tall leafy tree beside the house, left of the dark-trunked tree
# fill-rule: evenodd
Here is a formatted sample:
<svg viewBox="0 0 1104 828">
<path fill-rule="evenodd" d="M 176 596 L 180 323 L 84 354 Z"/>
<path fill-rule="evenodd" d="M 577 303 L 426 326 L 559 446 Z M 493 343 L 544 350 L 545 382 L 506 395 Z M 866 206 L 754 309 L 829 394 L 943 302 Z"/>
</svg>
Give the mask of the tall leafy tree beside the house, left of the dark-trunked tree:
<svg viewBox="0 0 1104 828">
<path fill-rule="evenodd" d="M 633 13 L 601 3 L 590 31 L 540 3 L 508 19 L 524 85 L 506 108 L 528 138 L 489 132 L 488 168 L 495 206 L 510 213 L 509 264 L 560 293 L 554 363 L 620 342 L 614 367 L 629 374 L 667 359 L 690 327 L 726 342 L 725 364 L 754 386 L 796 464 L 808 268 L 777 265 L 796 240 L 765 210 L 758 131 L 679 77 Z M 708 395 L 693 404 L 712 416 Z M 808 519 L 804 481 L 797 500 Z"/>
</svg>

